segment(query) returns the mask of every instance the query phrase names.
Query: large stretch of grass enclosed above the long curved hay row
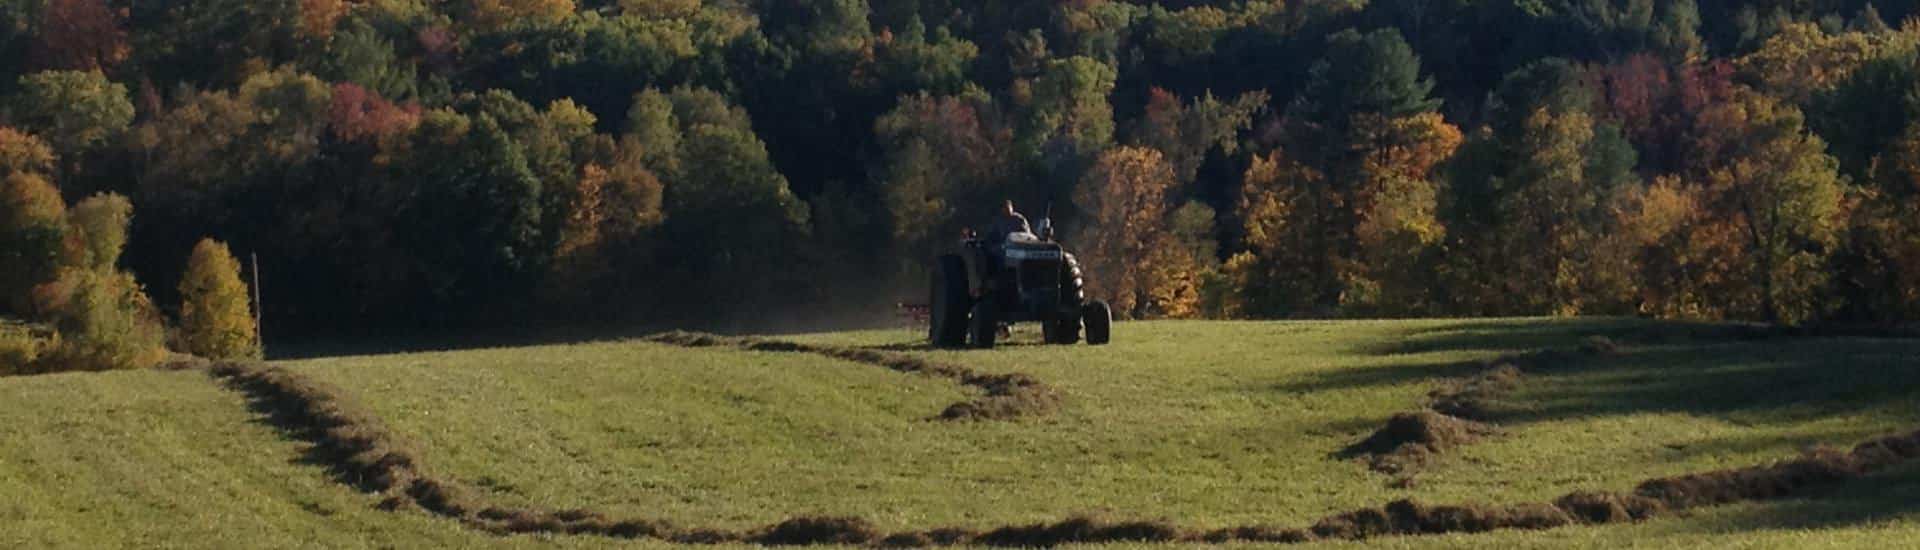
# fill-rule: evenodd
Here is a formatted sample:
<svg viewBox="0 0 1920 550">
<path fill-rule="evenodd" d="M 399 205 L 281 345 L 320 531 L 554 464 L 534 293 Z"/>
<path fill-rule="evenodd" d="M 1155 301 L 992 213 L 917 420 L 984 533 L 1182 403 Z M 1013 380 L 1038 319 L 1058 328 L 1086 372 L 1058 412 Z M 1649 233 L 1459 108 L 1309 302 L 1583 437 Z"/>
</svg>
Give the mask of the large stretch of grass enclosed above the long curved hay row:
<svg viewBox="0 0 1920 550">
<path fill-rule="evenodd" d="M 720 527 L 801 513 L 883 529 L 1073 513 L 1304 525 L 1394 498 L 1626 490 L 1920 425 L 1920 342 L 1670 342 L 1532 375 L 1501 404 L 1509 435 L 1440 460 L 1411 487 L 1331 458 L 1419 408 L 1438 377 L 1471 373 L 1463 362 L 1659 329 L 1129 323 L 1106 348 L 993 352 L 924 350 L 906 331 L 793 337 L 1025 371 L 1066 394 L 1054 415 L 981 423 L 927 419 L 964 396 L 945 381 L 795 354 L 609 342 L 292 365 L 361 396 L 419 438 L 436 469 L 505 502 Z"/>
</svg>

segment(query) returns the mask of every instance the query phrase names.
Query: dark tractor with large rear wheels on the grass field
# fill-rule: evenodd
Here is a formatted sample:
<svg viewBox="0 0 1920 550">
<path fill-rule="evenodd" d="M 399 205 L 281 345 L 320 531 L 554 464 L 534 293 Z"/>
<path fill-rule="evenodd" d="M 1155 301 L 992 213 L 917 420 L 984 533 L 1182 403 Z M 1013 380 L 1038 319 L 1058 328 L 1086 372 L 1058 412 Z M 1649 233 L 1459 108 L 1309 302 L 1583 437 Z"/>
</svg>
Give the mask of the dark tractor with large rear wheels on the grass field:
<svg viewBox="0 0 1920 550">
<path fill-rule="evenodd" d="M 960 254 L 933 265 L 927 302 L 927 337 L 935 348 L 993 348 L 1012 323 L 1041 323 L 1048 344 L 1112 340 L 1114 313 L 1106 302 L 1087 300 L 1079 260 L 1052 238 L 1052 223 L 1039 233 L 1014 233 L 1006 242 L 987 242 L 968 231 Z"/>
</svg>

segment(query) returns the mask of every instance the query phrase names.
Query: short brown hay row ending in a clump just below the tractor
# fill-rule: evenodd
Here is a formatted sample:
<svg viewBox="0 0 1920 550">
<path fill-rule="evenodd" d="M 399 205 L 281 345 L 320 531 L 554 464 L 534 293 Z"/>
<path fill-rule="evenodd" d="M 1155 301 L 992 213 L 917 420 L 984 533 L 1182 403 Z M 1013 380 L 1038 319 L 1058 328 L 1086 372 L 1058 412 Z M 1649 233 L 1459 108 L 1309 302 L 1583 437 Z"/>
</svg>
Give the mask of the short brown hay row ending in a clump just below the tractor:
<svg viewBox="0 0 1920 550">
<path fill-rule="evenodd" d="M 1060 408 L 1060 392 L 1056 392 L 1046 383 L 1025 375 L 1025 373 L 1004 373 L 989 375 L 973 371 L 958 363 L 931 362 L 912 354 L 885 352 L 872 348 L 851 348 L 851 346 L 822 346 L 804 344 L 789 340 L 770 340 L 760 337 L 720 337 L 707 333 L 662 333 L 641 338 L 655 344 L 670 344 L 684 348 L 741 348 L 753 352 L 793 352 L 793 354 L 816 354 L 843 362 L 854 362 L 864 365 L 885 367 L 900 373 L 941 377 L 960 383 L 964 387 L 979 388 L 983 394 L 973 400 L 958 402 L 943 410 L 937 419 L 960 421 L 960 419 L 1016 419 L 1044 415 Z"/>
</svg>

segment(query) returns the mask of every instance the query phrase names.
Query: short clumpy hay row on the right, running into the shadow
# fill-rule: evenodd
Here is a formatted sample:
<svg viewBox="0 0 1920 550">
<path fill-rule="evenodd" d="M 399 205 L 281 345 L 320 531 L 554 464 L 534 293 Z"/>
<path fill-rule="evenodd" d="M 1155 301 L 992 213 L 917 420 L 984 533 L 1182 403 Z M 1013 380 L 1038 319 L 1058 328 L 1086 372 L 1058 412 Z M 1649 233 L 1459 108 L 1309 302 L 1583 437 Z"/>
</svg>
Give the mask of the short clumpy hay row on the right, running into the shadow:
<svg viewBox="0 0 1920 550">
<path fill-rule="evenodd" d="M 1617 352 L 1619 346 L 1603 337 L 1580 344 L 1580 354 L 1586 356 Z M 1386 475 L 1419 469 L 1442 452 L 1498 435 L 1488 404 L 1519 388 L 1526 369 L 1553 367 L 1572 358 L 1572 352 L 1540 350 L 1478 362 L 1476 375 L 1440 383 L 1427 394 L 1423 410 L 1388 417 L 1384 427 L 1334 456 L 1361 460 Z"/>
</svg>

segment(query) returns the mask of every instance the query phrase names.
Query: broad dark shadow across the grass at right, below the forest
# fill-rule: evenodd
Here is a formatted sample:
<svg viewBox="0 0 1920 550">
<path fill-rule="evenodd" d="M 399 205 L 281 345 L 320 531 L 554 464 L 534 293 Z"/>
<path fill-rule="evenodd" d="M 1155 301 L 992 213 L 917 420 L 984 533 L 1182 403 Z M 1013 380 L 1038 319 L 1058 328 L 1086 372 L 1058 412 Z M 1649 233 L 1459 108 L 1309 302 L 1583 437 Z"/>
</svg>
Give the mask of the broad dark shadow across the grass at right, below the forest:
<svg viewBox="0 0 1920 550">
<path fill-rule="evenodd" d="M 1740 423 L 1809 421 L 1872 410 L 1912 410 L 1920 421 L 1916 338 L 1728 338 L 1726 325 L 1638 319 L 1490 319 L 1409 329 L 1371 352 L 1394 362 L 1331 369 L 1279 392 L 1405 385 L 1476 373 L 1484 362 L 1528 350 L 1574 350 L 1590 337 L 1622 342 L 1619 354 L 1565 354 L 1528 365 L 1526 383 L 1492 410 L 1500 423 L 1674 412 Z M 1665 337 L 1663 337 L 1665 335 Z M 1473 352 L 1482 360 L 1423 358 Z"/>
</svg>

